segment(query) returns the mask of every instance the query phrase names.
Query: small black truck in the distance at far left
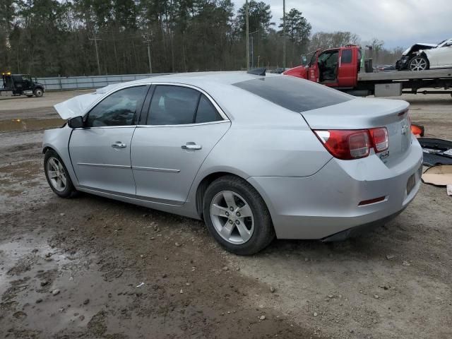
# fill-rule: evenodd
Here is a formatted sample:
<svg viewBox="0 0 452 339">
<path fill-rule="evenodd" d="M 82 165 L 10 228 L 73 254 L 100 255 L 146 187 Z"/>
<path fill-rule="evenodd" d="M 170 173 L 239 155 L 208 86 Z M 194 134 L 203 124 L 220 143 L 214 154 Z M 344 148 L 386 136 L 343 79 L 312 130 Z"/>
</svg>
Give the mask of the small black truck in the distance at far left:
<svg viewBox="0 0 452 339">
<path fill-rule="evenodd" d="M 28 97 L 42 97 L 44 95 L 44 85 L 38 83 L 36 78 L 33 81 L 29 74 L 11 74 L 1 73 L 3 85 L 0 88 L 1 92 L 12 92 L 13 95 L 27 95 Z"/>
</svg>

